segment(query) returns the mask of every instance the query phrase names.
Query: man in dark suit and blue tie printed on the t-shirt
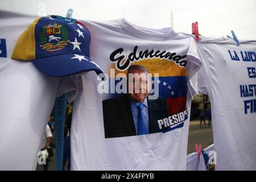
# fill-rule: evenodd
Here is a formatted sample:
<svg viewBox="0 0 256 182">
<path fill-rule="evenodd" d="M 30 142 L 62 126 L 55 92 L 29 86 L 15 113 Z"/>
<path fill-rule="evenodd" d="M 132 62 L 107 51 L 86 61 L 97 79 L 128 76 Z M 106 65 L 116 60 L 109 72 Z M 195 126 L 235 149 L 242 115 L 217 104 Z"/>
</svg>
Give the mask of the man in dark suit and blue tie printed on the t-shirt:
<svg viewBox="0 0 256 182">
<path fill-rule="evenodd" d="M 163 97 L 148 100 L 152 82 L 145 67 L 131 65 L 127 71 L 128 94 L 102 101 L 105 138 L 159 133 L 158 119 L 168 117 Z"/>
</svg>

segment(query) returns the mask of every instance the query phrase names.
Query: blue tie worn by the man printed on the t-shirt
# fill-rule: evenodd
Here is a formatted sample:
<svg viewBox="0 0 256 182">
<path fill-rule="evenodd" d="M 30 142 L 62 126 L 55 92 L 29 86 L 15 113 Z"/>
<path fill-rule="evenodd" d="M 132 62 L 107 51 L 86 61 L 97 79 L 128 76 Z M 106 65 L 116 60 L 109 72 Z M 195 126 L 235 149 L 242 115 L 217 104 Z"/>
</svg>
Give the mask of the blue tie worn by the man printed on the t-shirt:
<svg viewBox="0 0 256 182">
<path fill-rule="evenodd" d="M 148 134 L 148 129 L 146 126 L 146 118 L 143 114 L 143 107 L 144 105 L 141 103 L 137 106 L 139 113 L 138 113 L 138 135 Z"/>
</svg>

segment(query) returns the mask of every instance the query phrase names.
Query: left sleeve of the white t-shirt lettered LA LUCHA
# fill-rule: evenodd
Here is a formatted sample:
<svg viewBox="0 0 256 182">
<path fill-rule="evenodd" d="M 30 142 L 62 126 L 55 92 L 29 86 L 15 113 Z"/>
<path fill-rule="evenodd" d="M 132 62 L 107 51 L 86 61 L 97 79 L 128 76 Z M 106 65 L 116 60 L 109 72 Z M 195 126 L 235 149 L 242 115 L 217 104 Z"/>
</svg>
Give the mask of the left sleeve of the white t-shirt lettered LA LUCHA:
<svg viewBox="0 0 256 182">
<path fill-rule="evenodd" d="M 197 94 L 208 94 L 210 90 L 210 71 L 209 63 L 203 46 L 200 43 L 196 44 L 197 53 L 199 59 L 201 60 L 201 66 L 198 71 L 192 75 L 191 79 L 188 81 L 188 88 L 191 96 L 196 96 Z"/>
</svg>

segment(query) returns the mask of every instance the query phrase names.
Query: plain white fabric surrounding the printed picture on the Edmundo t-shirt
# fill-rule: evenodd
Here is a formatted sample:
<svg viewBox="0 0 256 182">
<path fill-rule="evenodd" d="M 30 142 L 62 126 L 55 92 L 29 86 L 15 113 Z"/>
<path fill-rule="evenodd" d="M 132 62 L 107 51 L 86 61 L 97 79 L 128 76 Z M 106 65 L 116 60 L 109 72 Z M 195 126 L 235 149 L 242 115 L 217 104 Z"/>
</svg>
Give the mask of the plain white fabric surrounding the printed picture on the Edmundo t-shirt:
<svg viewBox="0 0 256 182">
<path fill-rule="evenodd" d="M 135 46 L 138 46 L 138 52 L 154 49 L 187 55 L 189 78 L 201 64 L 194 40 L 170 28 L 153 30 L 134 26 L 124 19 L 106 22 L 84 20 L 84 23 L 91 35 L 90 58 L 105 73 L 114 68 L 114 64 L 110 62 L 113 51 L 123 48 L 122 55 L 127 55 L 133 52 Z M 100 80 L 96 79 L 97 75 L 89 72 L 82 75 L 77 84 L 81 88 L 73 105 L 72 170 L 184 170 L 189 119 L 180 129 L 164 134 L 105 138 L 102 100 L 108 97 L 97 92 Z M 191 96 L 188 94 L 189 113 L 190 106 Z"/>
</svg>

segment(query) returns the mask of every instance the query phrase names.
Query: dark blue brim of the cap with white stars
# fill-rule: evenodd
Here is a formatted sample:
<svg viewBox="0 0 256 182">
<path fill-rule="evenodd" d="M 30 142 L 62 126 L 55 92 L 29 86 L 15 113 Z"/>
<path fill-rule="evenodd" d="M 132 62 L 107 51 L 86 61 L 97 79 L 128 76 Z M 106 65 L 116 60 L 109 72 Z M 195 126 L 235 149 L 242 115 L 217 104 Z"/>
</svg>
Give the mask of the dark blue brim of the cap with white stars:
<svg viewBox="0 0 256 182">
<path fill-rule="evenodd" d="M 51 57 L 43 57 L 32 61 L 36 68 L 46 75 L 61 77 L 80 72 L 95 71 L 97 75 L 103 73 L 90 57 L 80 53 L 69 53 Z"/>
</svg>

